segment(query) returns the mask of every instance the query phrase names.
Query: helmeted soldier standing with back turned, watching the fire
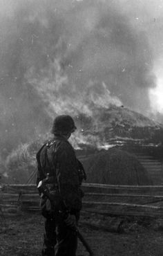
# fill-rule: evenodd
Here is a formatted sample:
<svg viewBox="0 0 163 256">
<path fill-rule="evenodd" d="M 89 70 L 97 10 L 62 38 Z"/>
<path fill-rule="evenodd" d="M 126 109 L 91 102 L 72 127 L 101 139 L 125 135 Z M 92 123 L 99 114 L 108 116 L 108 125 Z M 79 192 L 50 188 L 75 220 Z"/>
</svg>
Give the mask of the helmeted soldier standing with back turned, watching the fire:
<svg viewBox="0 0 163 256">
<path fill-rule="evenodd" d="M 75 131 L 70 116 L 57 116 L 53 122 L 54 138 L 37 153 L 37 185 L 47 183 L 52 203 L 41 194 L 41 213 L 45 218 L 44 248 L 42 255 L 75 256 L 77 235 L 73 226 L 79 221 L 82 179 L 86 174 L 68 138 Z M 64 214 L 66 212 L 66 219 Z"/>
</svg>

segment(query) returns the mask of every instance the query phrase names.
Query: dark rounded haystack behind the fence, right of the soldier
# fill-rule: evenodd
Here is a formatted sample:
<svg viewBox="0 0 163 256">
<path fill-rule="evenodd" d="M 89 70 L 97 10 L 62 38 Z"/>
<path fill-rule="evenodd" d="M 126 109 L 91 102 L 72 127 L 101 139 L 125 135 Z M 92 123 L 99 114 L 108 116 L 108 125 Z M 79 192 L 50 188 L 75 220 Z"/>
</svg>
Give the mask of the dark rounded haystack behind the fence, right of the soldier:
<svg viewBox="0 0 163 256">
<path fill-rule="evenodd" d="M 119 149 L 95 154 L 83 161 L 88 183 L 113 185 L 152 185 L 137 157 Z"/>
</svg>

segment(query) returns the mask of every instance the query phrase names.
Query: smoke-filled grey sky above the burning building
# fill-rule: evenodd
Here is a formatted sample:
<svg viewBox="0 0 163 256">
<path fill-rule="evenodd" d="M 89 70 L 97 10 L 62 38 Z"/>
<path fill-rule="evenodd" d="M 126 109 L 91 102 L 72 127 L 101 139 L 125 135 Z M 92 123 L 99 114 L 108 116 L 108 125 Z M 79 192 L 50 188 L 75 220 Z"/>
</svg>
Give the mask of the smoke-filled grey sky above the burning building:
<svg viewBox="0 0 163 256">
<path fill-rule="evenodd" d="M 163 122 L 161 0 L 0 0 L 0 60 L 1 147 L 111 104 Z"/>
</svg>

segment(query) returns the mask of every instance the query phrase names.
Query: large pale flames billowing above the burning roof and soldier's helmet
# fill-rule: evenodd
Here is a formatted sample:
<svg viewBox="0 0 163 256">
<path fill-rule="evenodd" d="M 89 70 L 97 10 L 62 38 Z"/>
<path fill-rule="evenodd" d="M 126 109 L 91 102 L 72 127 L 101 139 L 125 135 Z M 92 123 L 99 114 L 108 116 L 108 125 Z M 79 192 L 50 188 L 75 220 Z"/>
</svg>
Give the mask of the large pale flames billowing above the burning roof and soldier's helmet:
<svg viewBox="0 0 163 256">
<path fill-rule="evenodd" d="M 61 60 L 50 62 L 44 77 L 35 77 L 35 70 L 30 68 L 26 74 L 28 82 L 37 90 L 42 100 L 48 104 L 48 116 L 68 113 L 73 116 L 84 113 L 93 117 L 95 108 L 108 108 L 111 104 L 120 106 L 122 102 L 107 89 L 104 82 L 90 80 L 84 90 L 77 84 L 70 84 L 68 75 L 61 68 Z"/>
</svg>

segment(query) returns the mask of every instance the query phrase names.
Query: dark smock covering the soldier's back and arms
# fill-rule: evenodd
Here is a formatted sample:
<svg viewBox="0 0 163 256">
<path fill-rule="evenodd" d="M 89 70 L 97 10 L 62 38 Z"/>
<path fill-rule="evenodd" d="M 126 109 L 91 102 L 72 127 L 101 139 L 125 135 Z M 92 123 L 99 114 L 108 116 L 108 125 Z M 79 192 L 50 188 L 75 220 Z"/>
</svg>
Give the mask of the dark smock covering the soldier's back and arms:
<svg viewBox="0 0 163 256">
<path fill-rule="evenodd" d="M 37 153 L 37 184 L 46 178 L 46 174 L 54 177 L 53 188 L 59 190 L 61 200 L 70 211 L 81 210 L 79 162 L 75 151 L 63 137 L 55 137 L 46 143 Z"/>
</svg>

